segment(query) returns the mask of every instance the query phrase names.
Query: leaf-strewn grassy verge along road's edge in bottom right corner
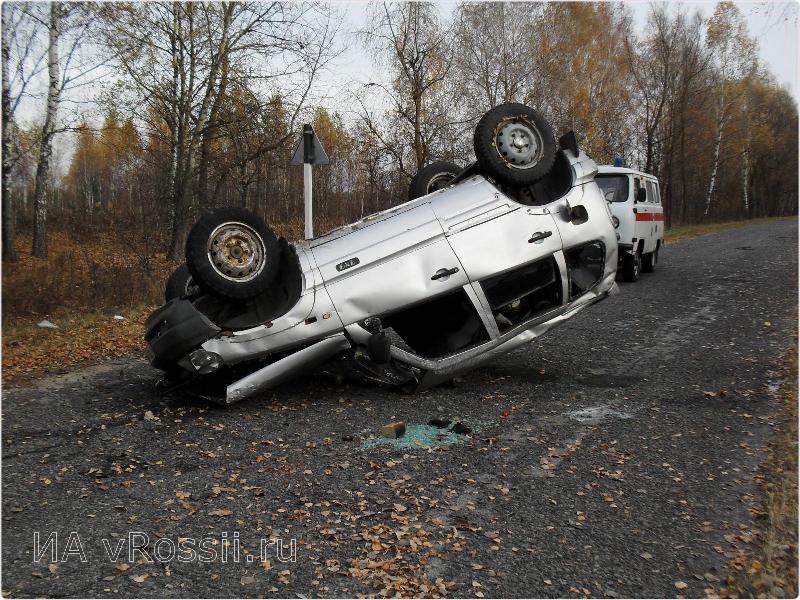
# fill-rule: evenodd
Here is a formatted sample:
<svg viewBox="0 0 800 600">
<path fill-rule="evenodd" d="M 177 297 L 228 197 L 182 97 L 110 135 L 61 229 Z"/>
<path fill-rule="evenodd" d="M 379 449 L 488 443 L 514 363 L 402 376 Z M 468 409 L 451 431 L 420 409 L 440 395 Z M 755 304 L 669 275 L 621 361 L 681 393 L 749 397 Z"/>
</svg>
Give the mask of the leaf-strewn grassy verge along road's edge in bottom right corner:
<svg viewBox="0 0 800 600">
<path fill-rule="evenodd" d="M 757 476 L 762 496 L 760 534 L 748 552 L 748 567 L 723 591 L 729 597 L 796 598 L 798 594 L 797 367 L 795 334 L 794 345 L 780 366 L 782 383 L 775 395 L 775 436 Z"/>
</svg>

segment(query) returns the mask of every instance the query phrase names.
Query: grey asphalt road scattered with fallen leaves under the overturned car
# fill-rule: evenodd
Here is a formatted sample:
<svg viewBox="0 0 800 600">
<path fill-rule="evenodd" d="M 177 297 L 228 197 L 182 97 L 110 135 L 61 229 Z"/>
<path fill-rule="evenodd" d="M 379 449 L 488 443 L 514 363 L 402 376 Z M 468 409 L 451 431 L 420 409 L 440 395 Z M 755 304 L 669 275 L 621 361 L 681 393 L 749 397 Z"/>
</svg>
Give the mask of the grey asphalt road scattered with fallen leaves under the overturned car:
<svg viewBox="0 0 800 600">
<path fill-rule="evenodd" d="M 794 220 L 676 242 L 619 295 L 417 396 L 318 374 L 222 409 L 165 398 L 140 360 L 6 390 L 3 591 L 705 596 L 755 526 L 797 249 Z M 369 444 L 433 417 L 473 433 Z M 34 562 L 34 532 L 54 531 L 86 562 L 75 540 Z M 242 557 L 294 539 L 296 560 L 149 563 L 125 545 L 111 562 L 103 539 L 113 553 L 135 531 L 165 559 L 225 531 Z"/>
</svg>

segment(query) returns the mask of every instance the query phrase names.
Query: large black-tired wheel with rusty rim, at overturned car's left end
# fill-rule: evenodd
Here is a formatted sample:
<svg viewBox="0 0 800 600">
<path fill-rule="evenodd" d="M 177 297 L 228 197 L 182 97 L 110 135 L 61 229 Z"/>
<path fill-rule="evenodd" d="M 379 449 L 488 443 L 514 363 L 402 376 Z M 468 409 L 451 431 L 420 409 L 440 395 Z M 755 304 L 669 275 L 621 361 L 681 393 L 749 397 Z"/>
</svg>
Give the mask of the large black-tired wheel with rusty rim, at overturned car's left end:
<svg viewBox="0 0 800 600">
<path fill-rule="evenodd" d="M 244 208 L 206 212 L 186 240 L 186 265 L 194 282 L 226 298 L 246 300 L 263 293 L 279 264 L 278 238 Z"/>
</svg>

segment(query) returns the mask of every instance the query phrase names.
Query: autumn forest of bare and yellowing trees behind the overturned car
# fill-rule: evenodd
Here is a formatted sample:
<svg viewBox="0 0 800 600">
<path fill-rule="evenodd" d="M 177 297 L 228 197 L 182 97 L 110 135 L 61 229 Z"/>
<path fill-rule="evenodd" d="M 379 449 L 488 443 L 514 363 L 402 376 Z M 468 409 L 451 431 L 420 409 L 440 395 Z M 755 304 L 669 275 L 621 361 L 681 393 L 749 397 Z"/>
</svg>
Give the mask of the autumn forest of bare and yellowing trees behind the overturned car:
<svg viewBox="0 0 800 600">
<path fill-rule="evenodd" d="M 656 3 L 636 29 L 624 3 L 365 4 L 358 31 L 341 10 L 4 3 L 4 319 L 155 298 L 209 207 L 299 237 L 304 122 L 331 158 L 319 232 L 403 202 L 430 161 L 468 164 L 477 119 L 509 101 L 658 176 L 668 226 L 797 213 L 797 106 L 732 3 Z M 380 77 L 340 81 L 332 108 L 320 86 L 353 45 Z M 33 291 L 9 298 L 7 277 Z"/>
</svg>

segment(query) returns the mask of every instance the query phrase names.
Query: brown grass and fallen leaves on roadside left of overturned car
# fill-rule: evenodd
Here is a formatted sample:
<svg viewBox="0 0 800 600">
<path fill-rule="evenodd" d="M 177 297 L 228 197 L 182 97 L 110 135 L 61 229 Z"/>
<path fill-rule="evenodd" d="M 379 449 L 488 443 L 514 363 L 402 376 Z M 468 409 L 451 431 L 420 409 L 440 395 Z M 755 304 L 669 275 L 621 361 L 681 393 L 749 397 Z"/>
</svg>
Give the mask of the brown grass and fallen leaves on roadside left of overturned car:
<svg viewBox="0 0 800 600">
<path fill-rule="evenodd" d="M 143 349 L 144 321 L 175 263 L 130 232 L 52 231 L 44 259 L 30 244 L 20 233 L 17 262 L 3 264 L 3 384 Z M 42 319 L 58 329 L 37 327 Z"/>
</svg>

